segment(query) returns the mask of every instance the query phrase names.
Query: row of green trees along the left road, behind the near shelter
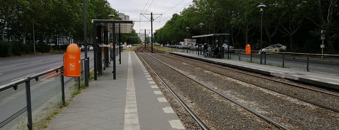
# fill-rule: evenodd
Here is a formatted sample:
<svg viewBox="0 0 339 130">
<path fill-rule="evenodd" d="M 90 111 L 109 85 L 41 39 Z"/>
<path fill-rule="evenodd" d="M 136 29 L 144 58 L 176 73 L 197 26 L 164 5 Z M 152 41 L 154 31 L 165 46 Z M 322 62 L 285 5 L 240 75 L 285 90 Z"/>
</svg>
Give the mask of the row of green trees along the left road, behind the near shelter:
<svg viewBox="0 0 339 130">
<path fill-rule="evenodd" d="M 83 41 L 83 0 L 0 0 L 0 41 L 15 35 L 20 43 L 44 41 L 60 36 Z M 87 39 L 92 19 L 121 19 L 107 0 L 86 0 Z M 136 36 L 133 31 L 123 37 Z M 68 42 L 70 39 L 67 39 Z M 83 42 L 82 42 L 83 43 Z"/>
</svg>

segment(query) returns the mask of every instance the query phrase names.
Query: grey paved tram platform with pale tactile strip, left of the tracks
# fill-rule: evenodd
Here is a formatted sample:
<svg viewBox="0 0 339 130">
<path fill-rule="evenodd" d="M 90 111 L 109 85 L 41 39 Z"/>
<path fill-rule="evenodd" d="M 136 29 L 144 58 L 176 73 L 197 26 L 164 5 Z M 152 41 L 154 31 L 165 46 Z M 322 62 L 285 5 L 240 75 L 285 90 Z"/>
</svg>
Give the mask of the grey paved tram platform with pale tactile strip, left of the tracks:
<svg viewBox="0 0 339 130">
<path fill-rule="evenodd" d="M 121 53 L 116 80 L 112 71 L 103 70 L 45 130 L 185 129 L 134 51 Z"/>
</svg>

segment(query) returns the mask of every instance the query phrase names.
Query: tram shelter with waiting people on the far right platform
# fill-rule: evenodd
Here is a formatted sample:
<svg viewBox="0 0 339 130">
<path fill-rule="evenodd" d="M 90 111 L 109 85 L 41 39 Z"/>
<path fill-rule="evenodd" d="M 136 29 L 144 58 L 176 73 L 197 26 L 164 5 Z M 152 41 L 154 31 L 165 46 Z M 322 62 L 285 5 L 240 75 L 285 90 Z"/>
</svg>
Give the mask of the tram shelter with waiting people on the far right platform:
<svg viewBox="0 0 339 130">
<path fill-rule="evenodd" d="M 225 51 L 225 48 L 223 47 L 224 44 L 229 44 L 229 33 L 218 33 L 218 34 L 205 34 L 205 35 L 196 35 L 192 36 L 192 38 L 199 38 L 199 46 L 198 50 L 200 50 L 200 54 L 202 54 L 203 49 L 199 49 L 204 43 L 207 43 L 207 45 L 212 45 L 214 47 L 217 47 L 218 49 L 218 56 L 219 58 L 224 58 L 225 52 L 227 52 L 227 58 L 229 57 L 229 50 Z M 204 40 L 203 40 L 204 39 Z M 205 41 L 205 42 L 203 42 Z M 229 48 L 227 48 L 229 49 Z"/>
</svg>

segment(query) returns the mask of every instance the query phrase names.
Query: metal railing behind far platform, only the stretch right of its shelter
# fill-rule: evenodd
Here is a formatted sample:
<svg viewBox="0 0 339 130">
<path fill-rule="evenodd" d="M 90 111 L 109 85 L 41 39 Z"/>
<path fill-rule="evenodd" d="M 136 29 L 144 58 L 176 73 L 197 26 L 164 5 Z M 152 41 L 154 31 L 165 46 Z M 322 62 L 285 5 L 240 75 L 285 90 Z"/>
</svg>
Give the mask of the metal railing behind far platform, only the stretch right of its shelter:
<svg viewBox="0 0 339 130">
<path fill-rule="evenodd" d="M 258 51 L 252 50 L 250 55 L 245 54 L 243 49 L 233 49 L 234 53 L 230 53 L 228 59 L 246 61 L 251 63 L 260 63 L 260 53 L 262 53 L 264 65 L 274 65 L 280 67 L 291 67 L 301 70 L 310 71 L 310 65 L 329 65 L 339 67 L 339 55 L 331 54 L 310 54 L 310 53 L 294 53 L 294 52 L 275 52 L 275 51 Z M 298 65 L 292 65 L 298 63 Z M 303 66 L 300 66 L 303 65 Z M 305 65 L 304 65 L 305 64 Z M 304 67 L 305 66 L 305 67 Z M 314 70 L 314 69 L 313 69 Z M 328 72 L 325 72 L 328 73 Z M 333 74 L 339 74 L 334 72 Z"/>
</svg>

